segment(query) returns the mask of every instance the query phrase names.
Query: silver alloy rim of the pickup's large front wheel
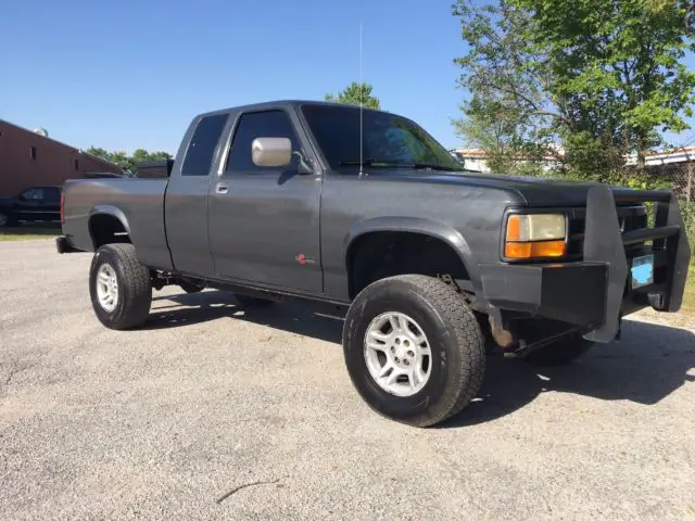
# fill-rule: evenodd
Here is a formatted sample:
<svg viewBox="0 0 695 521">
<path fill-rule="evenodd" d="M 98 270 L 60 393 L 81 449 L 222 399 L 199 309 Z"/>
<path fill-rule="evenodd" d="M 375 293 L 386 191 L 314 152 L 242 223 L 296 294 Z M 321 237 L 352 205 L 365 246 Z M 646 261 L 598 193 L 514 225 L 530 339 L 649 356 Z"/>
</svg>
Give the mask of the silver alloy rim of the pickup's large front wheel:
<svg viewBox="0 0 695 521">
<path fill-rule="evenodd" d="M 365 333 L 369 374 L 387 393 L 407 397 L 418 393 L 432 372 L 432 352 L 422 328 L 403 313 L 376 317 Z"/>
</svg>

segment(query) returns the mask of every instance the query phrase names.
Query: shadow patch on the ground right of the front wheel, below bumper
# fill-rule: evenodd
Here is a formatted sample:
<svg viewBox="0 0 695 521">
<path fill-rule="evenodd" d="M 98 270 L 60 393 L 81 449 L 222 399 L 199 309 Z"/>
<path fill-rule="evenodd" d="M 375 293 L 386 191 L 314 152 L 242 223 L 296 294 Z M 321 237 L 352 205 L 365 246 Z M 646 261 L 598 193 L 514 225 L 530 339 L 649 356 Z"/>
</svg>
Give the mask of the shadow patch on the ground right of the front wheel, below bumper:
<svg viewBox="0 0 695 521">
<path fill-rule="evenodd" d="M 547 392 L 654 405 L 688 382 L 695 382 L 693 333 L 626 320 L 619 342 L 596 344 L 564 367 L 488 357 L 485 379 L 476 401 L 440 428 L 495 420 Z"/>
</svg>

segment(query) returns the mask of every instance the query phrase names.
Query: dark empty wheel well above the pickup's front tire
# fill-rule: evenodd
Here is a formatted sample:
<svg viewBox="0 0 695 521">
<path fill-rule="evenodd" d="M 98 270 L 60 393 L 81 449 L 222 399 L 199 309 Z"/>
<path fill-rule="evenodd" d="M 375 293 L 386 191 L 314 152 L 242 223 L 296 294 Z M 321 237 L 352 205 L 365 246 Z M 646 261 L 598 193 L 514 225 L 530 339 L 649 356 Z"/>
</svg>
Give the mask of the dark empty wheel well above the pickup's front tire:
<svg viewBox="0 0 695 521">
<path fill-rule="evenodd" d="M 443 240 L 417 232 L 376 231 L 359 237 L 348 252 L 350 298 L 379 279 L 417 274 L 469 280 L 456 251 Z"/>
</svg>

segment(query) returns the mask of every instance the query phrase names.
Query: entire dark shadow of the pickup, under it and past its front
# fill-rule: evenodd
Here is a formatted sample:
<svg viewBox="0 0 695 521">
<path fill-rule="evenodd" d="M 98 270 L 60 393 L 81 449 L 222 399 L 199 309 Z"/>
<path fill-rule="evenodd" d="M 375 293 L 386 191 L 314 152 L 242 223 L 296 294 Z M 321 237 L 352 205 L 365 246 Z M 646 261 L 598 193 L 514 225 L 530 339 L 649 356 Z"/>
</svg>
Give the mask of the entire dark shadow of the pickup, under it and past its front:
<svg viewBox="0 0 695 521">
<path fill-rule="evenodd" d="M 287 304 L 243 312 L 232 294 L 216 291 L 156 296 L 144 329 L 181 327 L 224 317 L 326 342 L 341 342 L 340 320 L 314 316 Z M 626 320 L 619 342 L 596 344 L 582 358 L 561 368 L 543 368 L 523 360 L 489 356 L 485 379 L 476 401 L 439 428 L 493 421 L 547 392 L 653 405 L 688 382 L 695 382 L 693 333 Z"/>
</svg>

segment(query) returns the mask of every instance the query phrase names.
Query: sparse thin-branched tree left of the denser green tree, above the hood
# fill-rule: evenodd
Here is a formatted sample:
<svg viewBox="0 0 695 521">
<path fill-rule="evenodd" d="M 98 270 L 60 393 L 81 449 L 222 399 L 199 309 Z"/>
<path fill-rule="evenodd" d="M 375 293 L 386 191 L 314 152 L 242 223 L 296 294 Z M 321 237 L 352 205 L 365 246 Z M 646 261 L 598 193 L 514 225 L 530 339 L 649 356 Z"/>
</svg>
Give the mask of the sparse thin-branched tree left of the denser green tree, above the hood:
<svg viewBox="0 0 695 521">
<path fill-rule="evenodd" d="M 454 14 L 468 47 L 455 60 L 463 69 L 458 84 L 470 92 L 460 107 L 464 117 L 453 122 L 457 134 L 486 152 L 493 171 L 516 174 L 522 163 L 514 160 L 520 155 L 538 165 L 558 139 L 563 114 L 544 89 L 548 67 L 525 37 L 532 18 L 507 2 L 458 1 Z"/>
</svg>

